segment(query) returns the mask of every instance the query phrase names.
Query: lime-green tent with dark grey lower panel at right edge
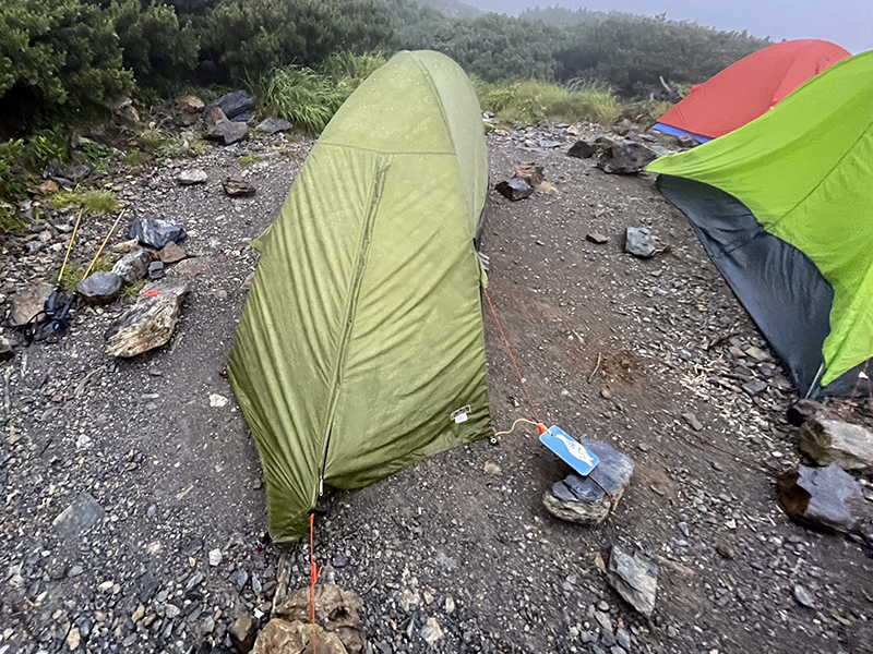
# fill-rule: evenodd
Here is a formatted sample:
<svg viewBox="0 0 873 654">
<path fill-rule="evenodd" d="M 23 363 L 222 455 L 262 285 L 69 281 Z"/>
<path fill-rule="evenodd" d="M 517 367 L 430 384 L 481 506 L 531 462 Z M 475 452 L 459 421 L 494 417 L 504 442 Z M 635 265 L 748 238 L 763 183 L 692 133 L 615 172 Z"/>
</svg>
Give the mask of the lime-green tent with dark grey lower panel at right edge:
<svg viewBox="0 0 873 654">
<path fill-rule="evenodd" d="M 648 170 L 800 390 L 850 392 L 873 355 L 873 52 Z"/>
</svg>

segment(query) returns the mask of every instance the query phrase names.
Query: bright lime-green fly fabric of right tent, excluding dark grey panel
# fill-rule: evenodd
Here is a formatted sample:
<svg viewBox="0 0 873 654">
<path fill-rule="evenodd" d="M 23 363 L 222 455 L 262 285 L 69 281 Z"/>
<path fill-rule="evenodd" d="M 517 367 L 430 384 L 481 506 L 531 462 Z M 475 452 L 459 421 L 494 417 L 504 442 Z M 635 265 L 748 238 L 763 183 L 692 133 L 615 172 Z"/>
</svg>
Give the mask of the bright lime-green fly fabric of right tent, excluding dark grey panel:
<svg viewBox="0 0 873 654">
<path fill-rule="evenodd" d="M 834 289 L 822 385 L 873 356 L 873 52 L 648 170 L 709 184 L 815 264 Z"/>
</svg>

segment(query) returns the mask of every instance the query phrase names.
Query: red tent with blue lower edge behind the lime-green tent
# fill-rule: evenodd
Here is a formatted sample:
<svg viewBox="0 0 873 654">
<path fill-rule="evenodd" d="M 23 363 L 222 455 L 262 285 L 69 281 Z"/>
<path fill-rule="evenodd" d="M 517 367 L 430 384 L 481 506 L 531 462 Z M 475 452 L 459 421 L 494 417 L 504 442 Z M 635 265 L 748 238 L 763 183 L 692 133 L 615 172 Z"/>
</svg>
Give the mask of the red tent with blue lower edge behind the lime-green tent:
<svg viewBox="0 0 873 654">
<path fill-rule="evenodd" d="M 723 136 L 781 102 L 792 90 L 849 57 L 817 39 L 782 41 L 753 52 L 691 93 L 665 113 L 655 130 L 699 142 Z"/>
</svg>

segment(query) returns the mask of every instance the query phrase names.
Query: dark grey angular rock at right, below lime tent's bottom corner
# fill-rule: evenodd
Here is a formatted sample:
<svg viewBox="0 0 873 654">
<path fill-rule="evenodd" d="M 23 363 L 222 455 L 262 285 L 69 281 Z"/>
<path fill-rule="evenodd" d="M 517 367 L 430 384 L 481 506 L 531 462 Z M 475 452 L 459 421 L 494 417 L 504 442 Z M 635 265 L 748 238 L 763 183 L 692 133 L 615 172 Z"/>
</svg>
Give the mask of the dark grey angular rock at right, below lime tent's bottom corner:
<svg viewBox="0 0 873 654">
<path fill-rule="evenodd" d="M 863 501 L 858 483 L 836 463 L 827 468 L 800 465 L 786 472 L 779 477 L 777 492 L 790 518 L 824 530 L 851 530 L 857 519 L 846 502 Z"/>
</svg>

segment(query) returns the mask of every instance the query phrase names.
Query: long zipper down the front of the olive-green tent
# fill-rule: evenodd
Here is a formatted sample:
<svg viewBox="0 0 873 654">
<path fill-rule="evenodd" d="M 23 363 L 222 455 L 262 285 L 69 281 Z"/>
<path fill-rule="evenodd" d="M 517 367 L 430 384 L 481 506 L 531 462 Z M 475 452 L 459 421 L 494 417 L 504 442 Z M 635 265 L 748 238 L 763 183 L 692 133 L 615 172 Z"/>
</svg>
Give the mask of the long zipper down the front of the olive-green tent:
<svg viewBox="0 0 873 654">
<path fill-rule="evenodd" d="M 375 222 L 375 215 L 379 209 L 379 203 L 382 198 L 382 190 L 385 186 L 385 178 L 391 168 L 392 157 L 388 155 L 380 154 L 375 160 L 375 171 L 373 173 L 373 183 L 370 187 L 370 198 L 367 203 L 367 215 L 364 217 L 363 227 L 361 229 L 361 240 L 358 244 L 357 263 L 355 266 L 355 274 L 351 278 L 349 292 L 346 298 L 346 308 L 343 316 L 343 335 L 339 339 L 339 347 L 336 352 L 336 361 L 334 362 L 333 382 L 331 385 L 331 399 L 327 402 L 327 416 L 325 421 L 326 429 L 324 437 L 324 445 L 322 446 L 321 469 L 319 470 L 319 483 L 314 489 L 318 495 L 312 498 L 312 505 L 324 493 L 324 475 L 327 469 L 327 450 L 331 445 L 331 437 L 333 436 L 334 413 L 336 412 L 336 402 L 339 396 L 339 385 L 343 379 L 343 371 L 346 365 L 346 354 L 348 353 L 348 346 L 351 340 L 351 331 L 355 326 L 355 314 L 358 308 L 358 296 L 361 291 L 361 283 L 363 281 L 363 272 L 367 268 L 367 259 L 370 254 L 370 243 L 373 234 L 373 223 Z"/>
</svg>

